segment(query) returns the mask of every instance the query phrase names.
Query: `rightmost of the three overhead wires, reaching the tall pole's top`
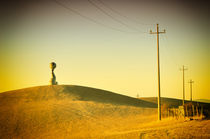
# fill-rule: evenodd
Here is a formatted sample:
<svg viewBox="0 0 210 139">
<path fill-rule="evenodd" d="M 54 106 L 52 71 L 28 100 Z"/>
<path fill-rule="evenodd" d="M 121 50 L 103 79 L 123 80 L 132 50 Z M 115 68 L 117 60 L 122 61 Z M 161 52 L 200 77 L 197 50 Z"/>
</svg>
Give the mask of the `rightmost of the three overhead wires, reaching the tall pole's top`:
<svg viewBox="0 0 210 139">
<path fill-rule="evenodd" d="M 114 8 L 112 8 L 111 6 L 109 6 L 108 4 L 106 4 L 105 2 L 103 2 L 103 0 L 97 0 L 97 1 L 100 2 L 106 8 L 110 9 L 112 12 L 114 12 L 114 13 L 118 14 L 119 16 L 124 17 L 124 18 L 126 18 L 126 19 L 128 19 L 128 20 L 130 20 L 130 21 L 132 21 L 132 22 L 134 22 L 136 24 L 140 24 L 140 25 L 154 25 L 154 24 L 140 23 L 140 22 L 138 22 L 138 21 L 136 21 L 134 19 L 131 19 L 130 17 L 122 14 L 121 12 L 115 10 Z"/>
</svg>

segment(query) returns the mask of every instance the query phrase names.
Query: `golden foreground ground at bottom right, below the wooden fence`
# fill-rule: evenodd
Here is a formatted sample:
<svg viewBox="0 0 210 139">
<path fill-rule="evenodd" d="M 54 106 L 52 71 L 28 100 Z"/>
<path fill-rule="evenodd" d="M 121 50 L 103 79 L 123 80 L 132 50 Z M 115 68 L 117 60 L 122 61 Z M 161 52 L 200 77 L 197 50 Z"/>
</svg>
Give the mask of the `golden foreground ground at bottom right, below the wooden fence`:
<svg viewBox="0 0 210 139">
<path fill-rule="evenodd" d="M 118 132 L 105 138 L 172 139 L 210 138 L 210 120 L 164 120 L 144 125 L 139 130 Z"/>
</svg>

